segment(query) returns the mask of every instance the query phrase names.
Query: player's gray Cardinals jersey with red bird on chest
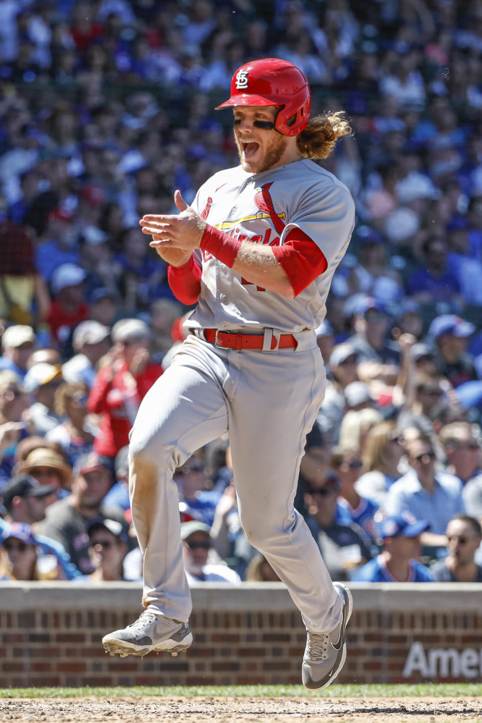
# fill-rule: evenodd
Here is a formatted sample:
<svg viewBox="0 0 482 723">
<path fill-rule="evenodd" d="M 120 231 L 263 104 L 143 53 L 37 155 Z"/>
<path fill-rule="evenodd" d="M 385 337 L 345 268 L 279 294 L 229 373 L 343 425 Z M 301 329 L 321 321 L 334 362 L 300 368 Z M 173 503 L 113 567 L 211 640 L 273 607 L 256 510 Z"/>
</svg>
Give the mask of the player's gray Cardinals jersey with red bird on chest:
<svg viewBox="0 0 482 723">
<path fill-rule="evenodd" d="M 202 288 L 187 325 L 220 330 L 267 327 L 288 333 L 317 328 L 354 226 L 355 205 L 345 185 L 307 159 L 254 175 L 238 166 L 212 176 L 199 189 L 193 208 L 211 226 L 259 244 L 280 246 L 293 228 L 301 228 L 322 250 L 328 266 L 296 299 L 287 299 L 247 283 L 199 250 Z"/>
</svg>

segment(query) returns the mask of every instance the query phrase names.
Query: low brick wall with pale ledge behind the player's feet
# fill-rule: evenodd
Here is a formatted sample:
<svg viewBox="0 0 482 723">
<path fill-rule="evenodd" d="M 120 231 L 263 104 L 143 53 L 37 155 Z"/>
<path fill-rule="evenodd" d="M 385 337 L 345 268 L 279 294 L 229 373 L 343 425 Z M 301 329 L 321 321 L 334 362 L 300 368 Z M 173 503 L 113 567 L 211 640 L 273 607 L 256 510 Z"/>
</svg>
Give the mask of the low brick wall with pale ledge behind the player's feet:
<svg viewBox="0 0 482 723">
<path fill-rule="evenodd" d="M 482 584 L 362 583 L 340 683 L 482 681 Z M 300 683 L 306 634 L 284 587 L 193 589 L 187 654 L 109 656 L 139 615 L 136 583 L 0 583 L 0 687 Z"/>
</svg>

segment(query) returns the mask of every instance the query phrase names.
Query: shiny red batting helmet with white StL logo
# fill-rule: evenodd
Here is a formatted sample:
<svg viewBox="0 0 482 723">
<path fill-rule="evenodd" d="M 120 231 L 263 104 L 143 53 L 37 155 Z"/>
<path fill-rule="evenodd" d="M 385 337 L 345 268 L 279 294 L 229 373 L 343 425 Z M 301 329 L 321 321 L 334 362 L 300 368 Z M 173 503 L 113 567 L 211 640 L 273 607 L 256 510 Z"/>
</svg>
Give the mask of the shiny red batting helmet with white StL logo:
<svg viewBox="0 0 482 723">
<path fill-rule="evenodd" d="M 275 129 L 283 135 L 296 136 L 309 124 L 311 92 L 296 65 L 264 58 L 236 70 L 231 80 L 231 98 L 218 108 L 231 106 L 275 106 L 279 108 Z"/>
</svg>

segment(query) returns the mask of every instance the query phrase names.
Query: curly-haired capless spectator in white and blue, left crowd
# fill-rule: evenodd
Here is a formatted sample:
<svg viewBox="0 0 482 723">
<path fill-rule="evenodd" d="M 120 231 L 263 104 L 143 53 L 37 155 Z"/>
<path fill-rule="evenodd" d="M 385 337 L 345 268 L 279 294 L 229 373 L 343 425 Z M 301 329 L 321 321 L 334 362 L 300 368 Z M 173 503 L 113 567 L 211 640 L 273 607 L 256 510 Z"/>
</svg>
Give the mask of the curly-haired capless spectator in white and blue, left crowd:
<svg viewBox="0 0 482 723">
<path fill-rule="evenodd" d="M 55 411 L 64 421 L 46 434 L 46 440 L 58 442 L 73 466 L 77 457 L 93 450 L 98 431 L 87 421 L 89 388 L 85 382 L 64 383 L 56 389 Z"/>
</svg>

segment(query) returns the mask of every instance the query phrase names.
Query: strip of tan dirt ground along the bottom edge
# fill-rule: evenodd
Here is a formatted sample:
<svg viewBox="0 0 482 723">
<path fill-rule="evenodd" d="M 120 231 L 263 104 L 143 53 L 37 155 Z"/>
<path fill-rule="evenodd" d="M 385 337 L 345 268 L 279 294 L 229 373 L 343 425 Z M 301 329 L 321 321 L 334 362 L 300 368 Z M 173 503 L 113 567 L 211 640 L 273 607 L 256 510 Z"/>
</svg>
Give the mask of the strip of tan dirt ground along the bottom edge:
<svg viewBox="0 0 482 723">
<path fill-rule="evenodd" d="M 62 698 L 0 700 L 0 723 L 482 722 L 481 698 Z"/>
</svg>

